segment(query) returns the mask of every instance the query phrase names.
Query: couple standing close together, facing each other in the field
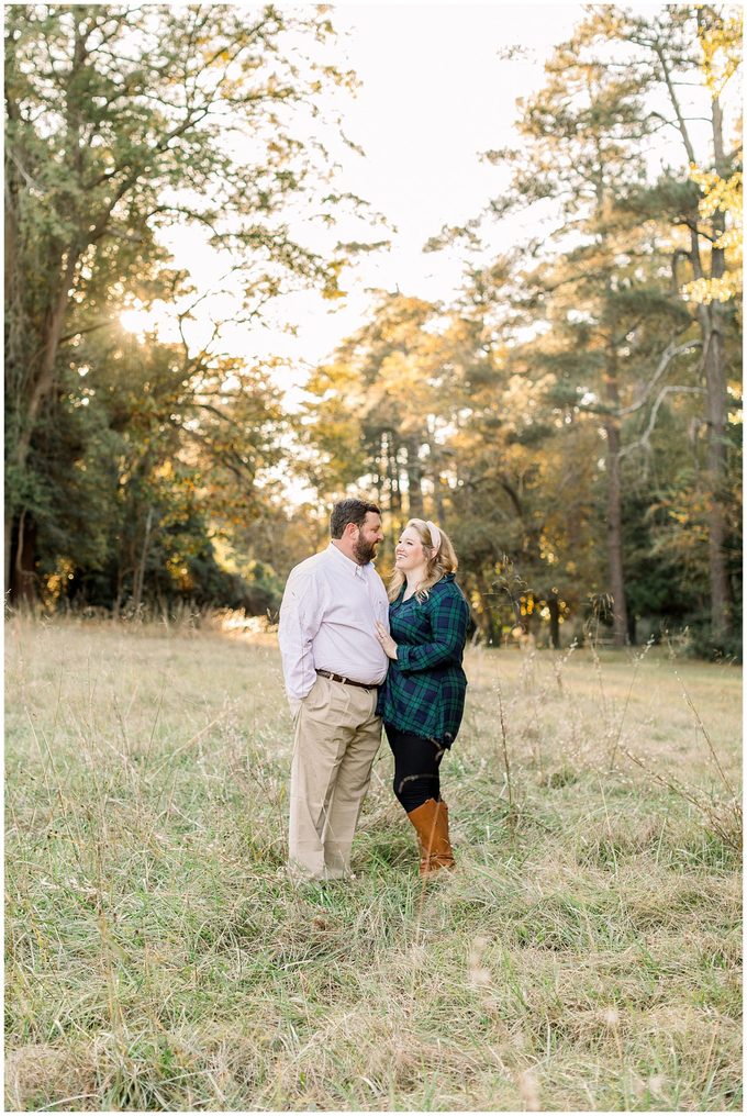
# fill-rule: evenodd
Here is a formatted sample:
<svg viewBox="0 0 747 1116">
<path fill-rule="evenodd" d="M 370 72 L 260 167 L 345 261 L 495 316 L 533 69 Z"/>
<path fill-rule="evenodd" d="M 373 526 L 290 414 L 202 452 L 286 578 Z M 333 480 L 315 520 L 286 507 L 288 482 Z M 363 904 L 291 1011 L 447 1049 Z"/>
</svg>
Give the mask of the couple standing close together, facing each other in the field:
<svg viewBox="0 0 747 1116">
<path fill-rule="evenodd" d="M 443 531 L 411 519 L 389 593 L 373 567 L 380 509 L 336 503 L 326 550 L 291 570 L 279 641 L 294 718 L 291 868 L 309 879 L 349 874 L 351 845 L 382 721 L 394 793 L 415 828 L 420 872 L 453 867 L 439 763 L 461 722 L 469 606 Z"/>
</svg>

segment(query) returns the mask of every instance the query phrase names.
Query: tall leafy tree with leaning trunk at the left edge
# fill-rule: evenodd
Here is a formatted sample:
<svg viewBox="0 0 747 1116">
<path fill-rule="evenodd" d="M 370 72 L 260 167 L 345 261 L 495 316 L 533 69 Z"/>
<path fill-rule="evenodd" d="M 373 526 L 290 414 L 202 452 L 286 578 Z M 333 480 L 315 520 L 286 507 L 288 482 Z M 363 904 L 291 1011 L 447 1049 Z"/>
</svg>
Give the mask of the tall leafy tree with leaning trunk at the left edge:
<svg viewBox="0 0 747 1116">
<path fill-rule="evenodd" d="M 313 60 L 331 33 L 323 9 L 8 9 L 7 583 L 28 560 L 29 461 L 71 347 L 127 294 L 184 291 L 159 229 L 198 222 L 232 253 L 247 318 L 282 277 L 335 294 L 344 254 L 304 247 L 287 220 L 290 199 L 323 222 L 339 202 L 324 147 L 296 132 L 324 84 L 352 80 Z"/>
</svg>

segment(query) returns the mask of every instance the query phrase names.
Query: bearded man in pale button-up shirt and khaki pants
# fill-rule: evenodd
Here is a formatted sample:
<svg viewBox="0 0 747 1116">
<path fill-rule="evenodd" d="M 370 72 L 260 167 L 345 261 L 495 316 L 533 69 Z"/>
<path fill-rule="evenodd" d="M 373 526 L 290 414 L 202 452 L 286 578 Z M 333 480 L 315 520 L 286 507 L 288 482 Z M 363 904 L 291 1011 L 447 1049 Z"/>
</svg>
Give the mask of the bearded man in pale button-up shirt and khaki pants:
<svg viewBox="0 0 747 1116">
<path fill-rule="evenodd" d="M 364 500 L 332 510 L 332 541 L 290 571 L 280 606 L 280 653 L 294 716 L 291 870 L 310 879 L 349 873 L 351 845 L 381 743 L 377 686 L 387 658 L 386 590 L 372 559 L 381 512 Z"/>
</svg>

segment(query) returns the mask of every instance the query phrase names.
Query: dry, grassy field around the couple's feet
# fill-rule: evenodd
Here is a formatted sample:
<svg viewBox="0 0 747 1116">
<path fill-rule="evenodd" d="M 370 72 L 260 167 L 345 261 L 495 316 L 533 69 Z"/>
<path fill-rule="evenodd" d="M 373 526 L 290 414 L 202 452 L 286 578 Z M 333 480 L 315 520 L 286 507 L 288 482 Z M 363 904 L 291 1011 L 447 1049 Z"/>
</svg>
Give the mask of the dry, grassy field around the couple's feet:
<svg viewBox="0 0 747 1116">
<path fill-rule="evenodd" d="M 270 637 L 6 651 L 7 1108 L 741 1108 L 737 668 L 473 650 L 459 870 L 384 744 L 356 878 L 294 888 Z"/>
</svg>

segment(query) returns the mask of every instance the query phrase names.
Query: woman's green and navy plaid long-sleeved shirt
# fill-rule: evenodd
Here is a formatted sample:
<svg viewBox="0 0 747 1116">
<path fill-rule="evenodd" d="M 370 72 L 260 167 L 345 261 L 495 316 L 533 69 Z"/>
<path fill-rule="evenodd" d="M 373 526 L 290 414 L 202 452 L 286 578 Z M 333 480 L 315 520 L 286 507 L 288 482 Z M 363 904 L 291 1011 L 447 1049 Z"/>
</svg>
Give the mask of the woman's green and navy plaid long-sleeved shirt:
<svg viewBox="0 0 747 1116">
<path fill-rule="evenodd" d="M 396 658 L 379 694 L 376 712 L 401 732 L 450 748 L 465 710 L 467 679 L 461 667 L 469 605 L 447 574 L 422 603 L 402 593 L 389 606 Z"/>
</svg>

